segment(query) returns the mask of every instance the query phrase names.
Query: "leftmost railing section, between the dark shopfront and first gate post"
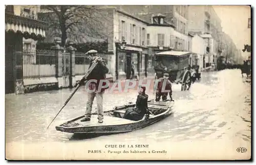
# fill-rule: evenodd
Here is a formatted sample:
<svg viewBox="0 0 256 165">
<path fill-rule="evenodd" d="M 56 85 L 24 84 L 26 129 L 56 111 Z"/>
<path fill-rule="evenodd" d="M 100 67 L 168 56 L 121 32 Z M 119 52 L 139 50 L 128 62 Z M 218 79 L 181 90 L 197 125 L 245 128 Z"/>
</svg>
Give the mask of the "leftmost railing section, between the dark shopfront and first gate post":
<svg viewBox="0 0 256 165">
<path fill-rule="evenodd" d="M 24 79 L 36 79 L 55 76 L 55 52 L 50 50 L 24 50 Z"/>
</svg>

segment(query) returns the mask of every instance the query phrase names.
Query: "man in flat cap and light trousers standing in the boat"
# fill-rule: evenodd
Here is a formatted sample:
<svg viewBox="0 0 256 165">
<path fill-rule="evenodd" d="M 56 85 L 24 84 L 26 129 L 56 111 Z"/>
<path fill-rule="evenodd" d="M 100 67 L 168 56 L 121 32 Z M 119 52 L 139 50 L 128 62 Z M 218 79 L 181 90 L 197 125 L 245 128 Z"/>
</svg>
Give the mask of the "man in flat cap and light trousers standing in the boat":
<svg viewBox="0 0 256 165">
<path fill-rule="evenodd" d="M 97 51 L 91 50 L 88 51 L 86 54 L 89 55 L 89 58 L 91 59 L 90 61 L 90 66 L 91 67 L 92 63 L 94 60 L 99 59 L 99 56 L 97 54 Z M 98 91 L 99 87 L 99 82 L 100 80 L 105 80 L 106 76 L 105 74 L 109 73 L 108 67 L 106 67 L 106 63 L 101 59 L 98 60 L 97 66 L 92 70 L 90 75 L 87 77 L 87 79 L 83 79 L 80 82 L 84 82 L 86 80 L 96 80 L 97 82 L 91 82 L 88 86 L 89 92 L 88 92 L 88 101 L 87 101 L 87 109 L 86 109 L 86 114 L 84 115 L 84 118 L 81 120 L 81 122 L 87 122 L 91 120 L 91 113 L 92 113 L 92 105 L 93 105 L 93 100 L 96 97 L 97 100 L 97 110 L 98 110 L 98 122 L 103 123 L 103 93 L 106 88 L 101 88 L 100 91 Z M 105 86 L 104 82 L 101 84 Z"/>
</svg>

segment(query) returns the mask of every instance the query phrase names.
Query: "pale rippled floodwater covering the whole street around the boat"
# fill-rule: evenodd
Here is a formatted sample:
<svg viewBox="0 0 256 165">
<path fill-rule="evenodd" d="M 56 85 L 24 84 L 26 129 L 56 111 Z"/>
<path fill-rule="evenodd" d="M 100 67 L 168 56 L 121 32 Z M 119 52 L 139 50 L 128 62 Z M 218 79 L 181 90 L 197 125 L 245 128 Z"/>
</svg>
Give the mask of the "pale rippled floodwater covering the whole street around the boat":
<svg viewBox="0 0 256 165">
<path fill-rule="evenodd" d="M 237 69 L 202 73 L 200 82 L 189 91 L 173 84 L 174 113 L 146 128 L 129 133 L 77 139 L 72 134 L 55 130 L 68 119 L 83 115 L 87 94 L 80 88 L 68 105 L 46 129 L 73 89 L 6 95 L 6 142 L 119 142 L 131 140 L 209 140 L 240 138 L 251 142 L 251 86 Z M 155 99 L 154 93 L 147 93 Z M 137 91 L 106 93 L 104 110 L 135 102 Z M 96 100 L 95 100 L 96 103 Z M 95 108 L 93 105 L 93 109 Z"/>
</svg>

